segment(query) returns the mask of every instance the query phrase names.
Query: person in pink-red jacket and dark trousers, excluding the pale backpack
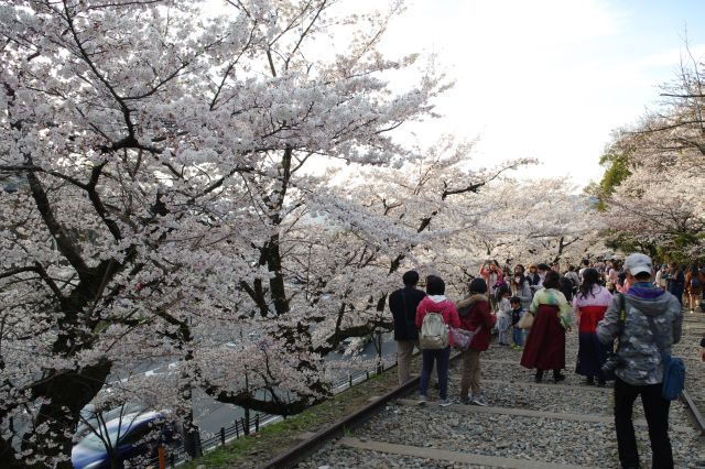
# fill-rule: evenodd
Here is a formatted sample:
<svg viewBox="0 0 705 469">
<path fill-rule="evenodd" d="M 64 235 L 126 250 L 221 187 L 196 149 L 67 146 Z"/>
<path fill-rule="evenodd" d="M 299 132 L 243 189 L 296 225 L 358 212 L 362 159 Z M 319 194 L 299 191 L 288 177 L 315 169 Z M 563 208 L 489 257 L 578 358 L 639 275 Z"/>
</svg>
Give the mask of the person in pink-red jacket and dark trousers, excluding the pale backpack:
<svg viewBox="0 0 705 469">
<path fill-rule="evenodd" d="M 426 277 L 426 296 L 419 303 L 416 307 L 416 327 L 423 327 L 423 319 L 429 313 L 440 313 L 443 323 L 446 326 L 460 327 L 460 318 L 458 312 L 448 298 L 445 297 L 445 282 L 436 275 Z M 442 407 L 451 405 L 448 401 L 448 366 L 451 360 L 451 347 L 453 346 L 453 336 L 448 336 L 448 345 L 443 349 L 422 349 L 421 357 L 423 366 L 421 369 L 420 394 L 422 401 L 429 399 L 429 380 L 433 372 L 433 366 L 436 366 L 438 374 L 438 397 Z"/>
</svg>

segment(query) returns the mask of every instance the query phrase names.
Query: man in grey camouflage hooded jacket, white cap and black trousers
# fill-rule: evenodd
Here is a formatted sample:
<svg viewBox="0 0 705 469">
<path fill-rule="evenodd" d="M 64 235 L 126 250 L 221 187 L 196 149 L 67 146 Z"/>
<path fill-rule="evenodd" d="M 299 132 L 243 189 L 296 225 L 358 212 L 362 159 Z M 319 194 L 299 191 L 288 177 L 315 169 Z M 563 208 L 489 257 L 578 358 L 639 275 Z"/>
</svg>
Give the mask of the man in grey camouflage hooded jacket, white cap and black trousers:
<svg viewBox="0 0 705 469">
<path fill-rule="evenodd" d="M 641 394 L 649 424 L 652 467 L 673 468 L 669 438 L 671 402 L 661 395 L 663 360 L 652 328 L 658 332 L 658 343 L 670 353 L 671 346 L 681 339 L 682 307 L 675 296 L 653 286 L 653 268 L 648 255 L 630 254 L 625 261 L 625 271 L 631 287 L 625 295 L 627 315 L 623 330 L 619 334 L 619 294 L 615 295 L 605 318 L 597 326 L 597 337 L 603 343 L 611 345 L 616 338 L 620 343 L 620 364 L 615 372 L 615 427 L 619 460 L 622 468 L 639 467 L 631 414 L 633 402 Z"/>
</svg>

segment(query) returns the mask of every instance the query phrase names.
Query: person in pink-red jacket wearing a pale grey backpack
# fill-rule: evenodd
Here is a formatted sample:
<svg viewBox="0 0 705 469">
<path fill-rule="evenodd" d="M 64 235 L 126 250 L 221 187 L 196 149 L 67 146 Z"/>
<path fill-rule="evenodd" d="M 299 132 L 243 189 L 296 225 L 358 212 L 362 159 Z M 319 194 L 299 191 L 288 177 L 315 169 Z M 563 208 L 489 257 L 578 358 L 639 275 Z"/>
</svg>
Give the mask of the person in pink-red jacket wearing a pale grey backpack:
<svg viewBox="0 0 705 469">
<path fill-rule="evenodd" d="M 436 275 L 426 277 L 426 297 L 416 308 L 416 327 L 419 327 L 419 342 L 423 368 L 421 371 L 421 401 L 429 399 L 429 380 L 433 372 L 434 362 L 438 373 L 438 396 L 442 407 L 451 405 L 448 401 L 448 367 L 453 337 L 449 327 L 460 327 L 458 312 L 453 302 L 445 297 L 445 282 Z"/>
</svg>

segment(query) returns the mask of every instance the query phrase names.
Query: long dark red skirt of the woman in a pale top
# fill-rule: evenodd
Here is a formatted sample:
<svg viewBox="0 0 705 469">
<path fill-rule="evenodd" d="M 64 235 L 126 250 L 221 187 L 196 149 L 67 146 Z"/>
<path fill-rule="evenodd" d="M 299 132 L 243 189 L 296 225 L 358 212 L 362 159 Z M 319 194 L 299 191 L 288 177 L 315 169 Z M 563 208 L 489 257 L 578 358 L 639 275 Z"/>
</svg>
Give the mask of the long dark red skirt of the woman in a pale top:
<svg viewBox="0 0 705 469">
<path fill-rule="evenodd" d="M 539 305 L 521 356 L 521 366 L 538 370 L 565 368 L 565 329 L 556 305 Z"/>
</svg>

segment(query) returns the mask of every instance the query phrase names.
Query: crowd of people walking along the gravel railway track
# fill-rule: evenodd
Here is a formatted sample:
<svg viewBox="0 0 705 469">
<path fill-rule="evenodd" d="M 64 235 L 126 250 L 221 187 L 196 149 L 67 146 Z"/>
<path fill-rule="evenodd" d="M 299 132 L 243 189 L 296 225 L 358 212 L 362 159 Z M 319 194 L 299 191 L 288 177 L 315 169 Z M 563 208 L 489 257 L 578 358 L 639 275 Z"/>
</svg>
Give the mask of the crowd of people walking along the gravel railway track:
<svg viewBox="0 0 705 469">
<path fill-rule="evenodd" d="M 638 395 L 649 423 L 654 467 L 673 467 L 668 435 L 670 401 L 660 391 L 663 352 L 670 353 L 680 339 L 684 295 L 686 309 L 699 307 L 701 285 L 705 283 L 699 266 L 654 266 L 641 253 L 630 254 L 623 262 L 586 260 L 579 269 L 568 266 L 563 273 L 557 264 L 510 270 L 488 261 L 469 283 L 467 296 L 457 302 L 446 297 L 440 276 L 425 279 L 425 293 L 416 288 L 419 281 L 415 271 L 406 272 L 404 287 L 390 295 L 389 305 L 399 345 L 400 385 L 412 378 L 414 347 L 421 349 L 420 402 L 429 400 L 435 368 L 438 404 L 452 404 L 447 393 L 449 357 L 458 343 L 463 345 L 458 402 L 487 405 L 480 386 L 480 356 L 492 342 L 492 332 L 497 346 L 521 352 L 520 364 L 534 372 L 535 382 L 551 372 L 556 383 L 566 378 L 566 334 L 577 334 L 575 373 L 583 375 L 587 385 L 604 386 L 615 380 L 615 423 L 622 467 L 639 465 L 631 423 Z M 440 330 L 429 326 L 430 315 L 445 325 L 447 340 L 424 348 L 426 336 Z M 606 368 L 610 362 L 617 363 L 609 369 L 614 373 Z"/>
</svg>

